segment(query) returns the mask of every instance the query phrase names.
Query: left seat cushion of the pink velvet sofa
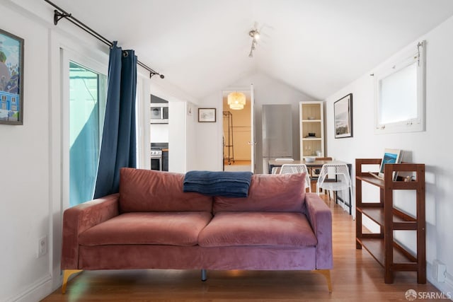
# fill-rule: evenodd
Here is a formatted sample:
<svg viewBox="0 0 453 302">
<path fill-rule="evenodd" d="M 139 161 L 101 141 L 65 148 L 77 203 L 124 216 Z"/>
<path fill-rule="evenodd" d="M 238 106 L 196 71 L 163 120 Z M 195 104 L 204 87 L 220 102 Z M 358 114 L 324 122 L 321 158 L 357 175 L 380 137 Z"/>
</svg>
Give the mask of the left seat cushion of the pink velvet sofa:
<svg viewBox="0 0 453 302">
<path fill-rule="evenodd" d="M 210 212 L 126 213 L 89 228 L 81 245 L 197 245 Z"/>
</svg>

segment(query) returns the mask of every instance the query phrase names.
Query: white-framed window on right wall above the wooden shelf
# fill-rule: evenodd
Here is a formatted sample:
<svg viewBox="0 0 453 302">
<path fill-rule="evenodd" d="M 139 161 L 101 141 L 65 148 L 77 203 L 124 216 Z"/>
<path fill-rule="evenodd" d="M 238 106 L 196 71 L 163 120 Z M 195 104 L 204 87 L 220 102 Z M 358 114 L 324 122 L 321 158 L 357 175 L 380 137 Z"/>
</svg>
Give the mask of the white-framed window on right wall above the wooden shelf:
<svg viewBox="0 0 453 302">
<path fill-rule="evenodd" d="M 425 42 L 374 74 L 376 133 L 425 130 Z"/>
</svg>

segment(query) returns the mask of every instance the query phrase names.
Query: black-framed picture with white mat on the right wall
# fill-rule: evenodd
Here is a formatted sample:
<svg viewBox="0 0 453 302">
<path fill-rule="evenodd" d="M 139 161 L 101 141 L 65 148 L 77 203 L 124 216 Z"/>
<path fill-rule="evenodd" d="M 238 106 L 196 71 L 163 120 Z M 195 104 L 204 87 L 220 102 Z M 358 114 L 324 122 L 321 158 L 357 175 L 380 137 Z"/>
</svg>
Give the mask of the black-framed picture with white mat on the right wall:
<svg viewBox="0 0 453 302">
<path fill-rule="evenodd" d="M 335 138 L 352 137 L 352 93 L 333 103 Z"/>
</svg>

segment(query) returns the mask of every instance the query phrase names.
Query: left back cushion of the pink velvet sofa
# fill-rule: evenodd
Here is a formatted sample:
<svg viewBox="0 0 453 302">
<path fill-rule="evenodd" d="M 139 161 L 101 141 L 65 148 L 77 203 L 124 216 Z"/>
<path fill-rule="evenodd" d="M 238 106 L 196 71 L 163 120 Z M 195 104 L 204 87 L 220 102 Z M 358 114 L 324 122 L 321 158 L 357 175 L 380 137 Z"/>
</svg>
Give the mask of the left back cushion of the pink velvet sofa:
<svg viewBox="0 0 453 302">
<path fill-rule="evenodd" d="M 122 168 L 120 211 L 212 211 L 212 197 L 183 192 L 184 174 Z"/>
</svg>

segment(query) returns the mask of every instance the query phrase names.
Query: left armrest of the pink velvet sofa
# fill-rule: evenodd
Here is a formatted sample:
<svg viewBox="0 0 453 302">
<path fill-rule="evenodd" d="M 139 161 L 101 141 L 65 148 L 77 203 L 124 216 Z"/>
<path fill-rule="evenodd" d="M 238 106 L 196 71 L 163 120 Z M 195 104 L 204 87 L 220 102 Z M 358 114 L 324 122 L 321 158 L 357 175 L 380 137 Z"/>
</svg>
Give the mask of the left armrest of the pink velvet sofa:
<svg viewBox="0 0 453 302">
<path fill-rule="evenodd" d="M 111 194 L 66 209 L 63 214 L 61 269 L 78 269 L 79 235 L 119 214 L 120 194 Z"/>
</svg>

